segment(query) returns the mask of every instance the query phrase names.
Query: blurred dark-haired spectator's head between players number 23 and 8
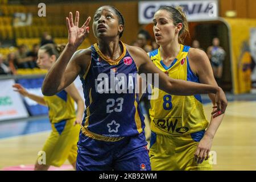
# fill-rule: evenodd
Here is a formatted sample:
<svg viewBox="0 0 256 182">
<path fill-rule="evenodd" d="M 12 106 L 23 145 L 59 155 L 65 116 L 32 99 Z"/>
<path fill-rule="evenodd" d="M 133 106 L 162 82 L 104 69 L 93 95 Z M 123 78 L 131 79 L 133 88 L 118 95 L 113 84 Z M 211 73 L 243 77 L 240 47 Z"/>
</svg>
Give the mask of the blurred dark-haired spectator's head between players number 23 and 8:
<svg viewBox="0 0 256 182">
<path fill-rule="evenodd" d="M 150 34 L 146 30 L 140 30 L 137 34 L 137 44 L 146 52 L 152 51 L 152 46 L 148 45 L 151 41 Z"/>
</svg>

